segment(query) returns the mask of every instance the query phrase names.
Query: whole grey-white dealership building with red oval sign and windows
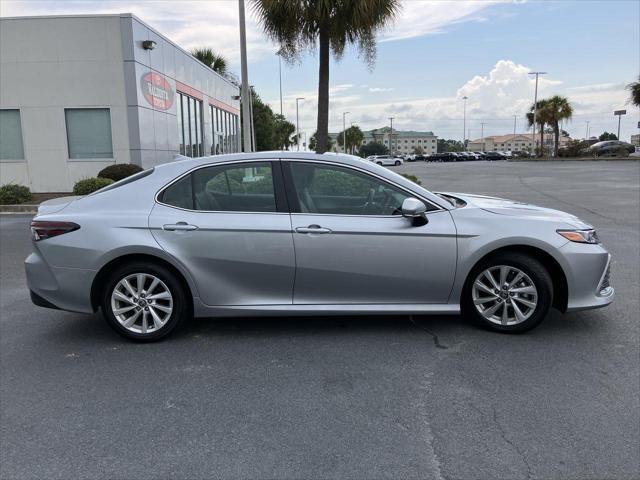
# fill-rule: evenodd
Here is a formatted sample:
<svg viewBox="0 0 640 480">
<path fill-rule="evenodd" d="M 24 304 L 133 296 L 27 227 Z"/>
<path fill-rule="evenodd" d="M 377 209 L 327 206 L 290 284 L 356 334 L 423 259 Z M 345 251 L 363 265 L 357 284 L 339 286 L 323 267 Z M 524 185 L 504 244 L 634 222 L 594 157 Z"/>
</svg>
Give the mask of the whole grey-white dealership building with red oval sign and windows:
<svg viewBox="0 0 640 480">
<path fill-rule="evenodd" d="M 237 152 L 239 95 L 131 14 L 0 18 L 0 184 Z"/>
</svg>

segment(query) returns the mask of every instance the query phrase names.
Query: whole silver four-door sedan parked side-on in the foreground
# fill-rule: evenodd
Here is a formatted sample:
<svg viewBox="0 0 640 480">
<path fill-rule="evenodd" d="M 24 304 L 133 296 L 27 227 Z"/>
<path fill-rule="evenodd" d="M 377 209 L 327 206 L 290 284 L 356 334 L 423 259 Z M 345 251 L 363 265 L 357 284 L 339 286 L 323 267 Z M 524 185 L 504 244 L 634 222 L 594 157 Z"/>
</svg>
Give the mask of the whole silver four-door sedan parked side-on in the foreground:
<svg viewBox="0 0 640 480">
<path fill-rule="evenodd" d="M 31 231 L 36 305 L 101 309 L 143 341 L 192 316 L 462 312 L 516 333 L 614 298 L 611 257 L 575 216 L 335 155 L 173 162 L 44 202 Z"/>
</svg>

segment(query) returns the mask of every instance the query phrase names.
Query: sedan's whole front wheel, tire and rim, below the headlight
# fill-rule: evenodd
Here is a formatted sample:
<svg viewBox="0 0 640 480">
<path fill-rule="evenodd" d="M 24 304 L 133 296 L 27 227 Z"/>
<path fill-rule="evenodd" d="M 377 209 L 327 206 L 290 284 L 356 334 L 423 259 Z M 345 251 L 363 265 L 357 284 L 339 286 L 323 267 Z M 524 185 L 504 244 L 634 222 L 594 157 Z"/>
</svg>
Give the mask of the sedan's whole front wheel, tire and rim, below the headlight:
<svg viewBox="0 0 640 480">
<path fill-rule="evenodd" d="M 462 309 L 485 328 L 521 333 L 544 320 L 552 300 L 553 283 L 540 262 L 521 253 L 502 253 L 473 269 Z"/>
</svg>

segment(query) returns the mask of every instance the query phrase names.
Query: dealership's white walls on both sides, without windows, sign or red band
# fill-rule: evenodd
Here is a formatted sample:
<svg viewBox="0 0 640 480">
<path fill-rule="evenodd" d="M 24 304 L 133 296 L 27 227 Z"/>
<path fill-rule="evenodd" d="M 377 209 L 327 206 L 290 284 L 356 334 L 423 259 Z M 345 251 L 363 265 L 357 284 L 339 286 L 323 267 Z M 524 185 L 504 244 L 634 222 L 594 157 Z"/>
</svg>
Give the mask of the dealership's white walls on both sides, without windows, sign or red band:
<svg viewBox="0 0 640 480">
<path fill-rule="evenodd" d="M 144 40 L 156 48 L 144 49 Z M 173 101 L 166 109 L 141 90 L 150 72 L 168 82 Z M 0 108 L 20 110 L 24 145 L 24 159 L 0 160 L 0 184 L 69 192 L 113 163 L 147 168 L 171 161 L 179 148 L 177 88 L 203 101 L 209 154 L 209 104 L 239 114 L 238 88 L 135 16 L 0 19 Z M 112 158 L 69 158 L 65 108 L 83 107 L 109 108 Z"/>
</svg>

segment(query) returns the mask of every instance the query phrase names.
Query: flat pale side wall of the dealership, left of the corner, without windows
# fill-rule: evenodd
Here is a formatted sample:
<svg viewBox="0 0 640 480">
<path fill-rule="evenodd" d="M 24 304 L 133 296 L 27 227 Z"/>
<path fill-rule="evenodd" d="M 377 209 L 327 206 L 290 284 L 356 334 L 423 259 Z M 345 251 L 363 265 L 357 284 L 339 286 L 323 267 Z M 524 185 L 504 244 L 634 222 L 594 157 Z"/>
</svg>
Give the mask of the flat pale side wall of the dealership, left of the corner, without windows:
<svg viewBox="0 0 640 480">
<path fill-rule="evenodd" d="M 0 183 L 70 191 L 130 161 L 120 21 L 116 16 L 0 19 L 0 108 L 17 108 L 24 160 L 0 161 Z M 113 159 L 69 160 L 65 108 L 109 107 Z"/>
</svg>

